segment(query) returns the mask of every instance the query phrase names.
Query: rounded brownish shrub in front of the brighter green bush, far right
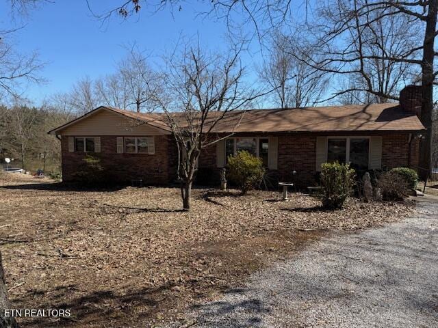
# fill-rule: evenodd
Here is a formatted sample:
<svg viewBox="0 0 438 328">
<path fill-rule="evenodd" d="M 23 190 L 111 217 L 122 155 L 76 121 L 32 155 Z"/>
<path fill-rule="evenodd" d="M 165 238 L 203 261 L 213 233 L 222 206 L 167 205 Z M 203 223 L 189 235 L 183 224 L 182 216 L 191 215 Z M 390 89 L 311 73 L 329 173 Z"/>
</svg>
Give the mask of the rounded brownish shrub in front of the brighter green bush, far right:
<svg viewBox="0 0 438 328">
<path fill-rule="evenodd" d="M 381 189 L 383 200 L 403 200 L 409 190 L 403 176 L 392 170 L 379 176 L 377 187 Z"/>
</svg>

